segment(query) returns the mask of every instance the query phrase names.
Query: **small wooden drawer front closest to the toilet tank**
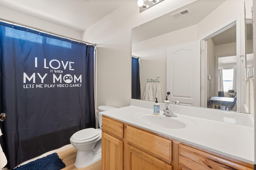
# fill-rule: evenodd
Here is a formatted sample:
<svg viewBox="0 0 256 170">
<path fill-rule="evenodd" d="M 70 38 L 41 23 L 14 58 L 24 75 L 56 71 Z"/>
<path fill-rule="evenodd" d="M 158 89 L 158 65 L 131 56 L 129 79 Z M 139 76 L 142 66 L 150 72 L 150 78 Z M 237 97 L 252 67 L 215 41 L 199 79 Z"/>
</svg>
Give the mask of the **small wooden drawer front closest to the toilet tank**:
<svg viewBox="0 0 256 170">
<path fill-rule="evenodd" d="M 124 124 L 102 116 L 102 129 L 111 135 L 124 139 Z"/>
</svg>

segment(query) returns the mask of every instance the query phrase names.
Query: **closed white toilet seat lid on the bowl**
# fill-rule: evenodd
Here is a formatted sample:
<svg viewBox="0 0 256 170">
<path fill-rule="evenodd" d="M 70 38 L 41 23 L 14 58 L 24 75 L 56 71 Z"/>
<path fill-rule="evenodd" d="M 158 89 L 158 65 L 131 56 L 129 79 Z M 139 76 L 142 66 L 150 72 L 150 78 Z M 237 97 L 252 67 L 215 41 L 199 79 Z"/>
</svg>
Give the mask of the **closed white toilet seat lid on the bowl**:
<svg viewBox="0 0 256 170">
<path fill-rule="evenodd" d="M 101 133 L 99 130 L 94 128 L 82 129 L 74 133 L 71 137 L 74 141 L 89 142 L 100 137 Z"/>
</svg>

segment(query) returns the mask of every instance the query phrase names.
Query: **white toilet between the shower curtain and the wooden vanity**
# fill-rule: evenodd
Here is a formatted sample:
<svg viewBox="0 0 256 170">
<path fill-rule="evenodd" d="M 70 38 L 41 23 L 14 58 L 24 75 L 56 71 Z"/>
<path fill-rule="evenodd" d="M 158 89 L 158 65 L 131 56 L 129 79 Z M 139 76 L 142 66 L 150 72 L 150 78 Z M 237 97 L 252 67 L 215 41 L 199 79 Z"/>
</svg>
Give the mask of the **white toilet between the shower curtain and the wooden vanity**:
<svg viewBox="0 0 256 170">
<path fill-rule="evenodd" d="M 84 168 L 101 159 L 102 115 L 98 113 L 112 109 L 116 109 L 116 107 L 99 106 L 97 117 L 99 119 L 100 128 L 82 129 L 70 137 L 70 143 L 77 149 L 76 168 Z"/>
</svg>

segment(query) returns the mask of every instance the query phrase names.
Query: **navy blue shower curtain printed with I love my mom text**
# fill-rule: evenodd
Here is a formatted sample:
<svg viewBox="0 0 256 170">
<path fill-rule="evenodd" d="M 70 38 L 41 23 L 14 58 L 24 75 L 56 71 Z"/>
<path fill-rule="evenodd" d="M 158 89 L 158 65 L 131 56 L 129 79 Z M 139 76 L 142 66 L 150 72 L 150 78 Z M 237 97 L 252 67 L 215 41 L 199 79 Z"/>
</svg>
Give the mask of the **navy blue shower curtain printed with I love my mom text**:
<svg viewBox="0 0 256 170">
<path fill-rule="evenodd" d="M 95 127 L 94 46 L 0 22 L 0 80 L 8 169 Z"/>
</svg>

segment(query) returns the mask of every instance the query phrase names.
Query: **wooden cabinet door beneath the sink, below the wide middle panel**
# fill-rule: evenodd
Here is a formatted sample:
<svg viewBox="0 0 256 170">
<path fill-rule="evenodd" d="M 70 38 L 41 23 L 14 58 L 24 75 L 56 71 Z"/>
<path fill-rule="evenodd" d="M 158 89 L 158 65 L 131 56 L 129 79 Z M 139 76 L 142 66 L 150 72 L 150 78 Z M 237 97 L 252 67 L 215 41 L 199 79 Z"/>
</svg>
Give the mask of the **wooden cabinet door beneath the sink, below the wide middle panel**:
<svg viewBox="0 0 256 170">
<path fill-rule="evenodd" d="M 145 152 L 127 145 L 128 170 L 172 170 L 172 166 Z"/>
</svg>

